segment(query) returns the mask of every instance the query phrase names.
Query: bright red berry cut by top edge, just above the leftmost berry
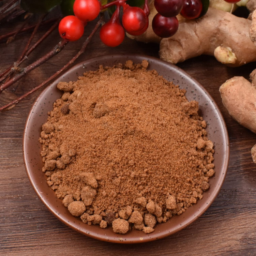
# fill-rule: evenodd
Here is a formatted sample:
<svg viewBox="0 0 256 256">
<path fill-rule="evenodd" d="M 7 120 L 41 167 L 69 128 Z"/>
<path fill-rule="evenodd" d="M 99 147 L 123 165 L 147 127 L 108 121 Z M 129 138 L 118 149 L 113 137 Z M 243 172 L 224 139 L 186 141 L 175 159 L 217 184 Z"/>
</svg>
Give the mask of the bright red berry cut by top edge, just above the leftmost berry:
<svg viewBox="0 0 256 256">
<path fill-rule="evenodd" d="M 91 21 L 97 18 L 101 10 L 98 0 L 75 0 L 73 11 L 76 17 L 82 21 Z"/>
</svg>

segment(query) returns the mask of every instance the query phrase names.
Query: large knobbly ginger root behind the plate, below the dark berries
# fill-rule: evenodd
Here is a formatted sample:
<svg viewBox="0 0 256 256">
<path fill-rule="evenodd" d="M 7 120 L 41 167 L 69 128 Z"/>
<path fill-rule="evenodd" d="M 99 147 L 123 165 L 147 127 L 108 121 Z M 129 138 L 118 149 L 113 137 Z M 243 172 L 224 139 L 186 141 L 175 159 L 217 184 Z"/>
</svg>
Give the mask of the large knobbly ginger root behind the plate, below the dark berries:
<svg viewBox="0 0 256 256">
<path fill-rule="evenodd" d="M 176 64 L 205 54 L 215 56 L 228 66 L 255 61 L 256 47 L 249 36 L 251 22 L 209 8 L 206 15 L 181 22 L 176 34 L 161 40 L 160 58 Z"/>
</svg>

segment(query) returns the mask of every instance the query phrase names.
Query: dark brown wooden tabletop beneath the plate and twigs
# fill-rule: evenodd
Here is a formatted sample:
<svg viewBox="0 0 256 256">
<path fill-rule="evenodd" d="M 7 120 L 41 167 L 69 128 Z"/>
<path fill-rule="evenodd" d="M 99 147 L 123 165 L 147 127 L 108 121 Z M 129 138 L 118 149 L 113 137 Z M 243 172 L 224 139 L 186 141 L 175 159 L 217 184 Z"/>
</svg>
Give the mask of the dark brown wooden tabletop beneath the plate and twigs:
<svg viewBox="0 0 256 256">
<path fill-rule="evenodd" d="M 14 24 L 0 25 L 0 34 Z M 92 24 L 86 27 L 86 34 Z M 41 28 L 35 40 L 46 31 Z M 0 71 L 21 54 L 30 33 L 15 41 L 0 42 Z M 45 54 L 59 41 L 55 31 L 39 46 L 23 66 Z M 3 105 L 22 95 L 60 69 L 80 48 L 83 40 L 69 43 L 59 55 L 33 70 L 0 95 Z M 77 61 L 104 54 L 145 54 L 158 57 L 159 46 L 128 38 L 116 48 L 108 48 L 94 36 L 85 54 Z M 22 157 L 22 136 L 36 91 L 13 109 L 0 113 L 0 255 L 256 255 L 256 165 L 251 148 L 256 135 L 234 121 L 224 108 L 219 87 L 233 76 L 249 77 L 255 63 L 230 68 L 210 56 L 200 56 L 178 64 L 196 78 L 212 95 L 226 121 L 230 140 L 230 161 L 222 189 L 204 215 L 174 235 L 142 244 L 112 244 L 77 233 L 62 224 L 35 194 Z"/>
</svg>

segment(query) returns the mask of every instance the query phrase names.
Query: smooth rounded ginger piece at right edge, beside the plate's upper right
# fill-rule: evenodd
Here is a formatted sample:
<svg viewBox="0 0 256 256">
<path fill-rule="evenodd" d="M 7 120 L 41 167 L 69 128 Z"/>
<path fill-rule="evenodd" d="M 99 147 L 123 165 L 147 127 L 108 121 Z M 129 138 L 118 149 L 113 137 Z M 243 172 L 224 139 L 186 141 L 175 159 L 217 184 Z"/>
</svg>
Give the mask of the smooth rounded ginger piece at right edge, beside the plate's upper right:
<svg viewBox="0 0 256 256">
<path fill-rule="evenodd" d="M 256 133 L 256 88 L 244 77 L 235 76 L 222 84 L 220 93 L 232 118 Z"/>
</svg>

